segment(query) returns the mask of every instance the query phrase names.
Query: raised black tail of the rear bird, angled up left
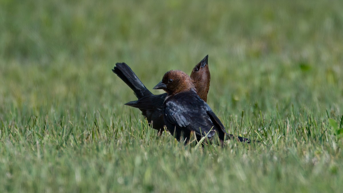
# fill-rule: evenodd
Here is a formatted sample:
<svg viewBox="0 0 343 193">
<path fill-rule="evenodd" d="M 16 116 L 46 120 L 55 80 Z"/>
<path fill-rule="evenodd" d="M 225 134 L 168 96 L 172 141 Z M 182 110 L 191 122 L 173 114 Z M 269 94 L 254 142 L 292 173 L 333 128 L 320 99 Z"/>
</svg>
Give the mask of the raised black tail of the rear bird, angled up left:
<svg viewBox="0 0 343 193">
<path fill-rule="evenodd" d="M 127 64 L 117 63 L 112 71 L 133 90 L 138 99 L 152 95 Z"/>
</svg>

